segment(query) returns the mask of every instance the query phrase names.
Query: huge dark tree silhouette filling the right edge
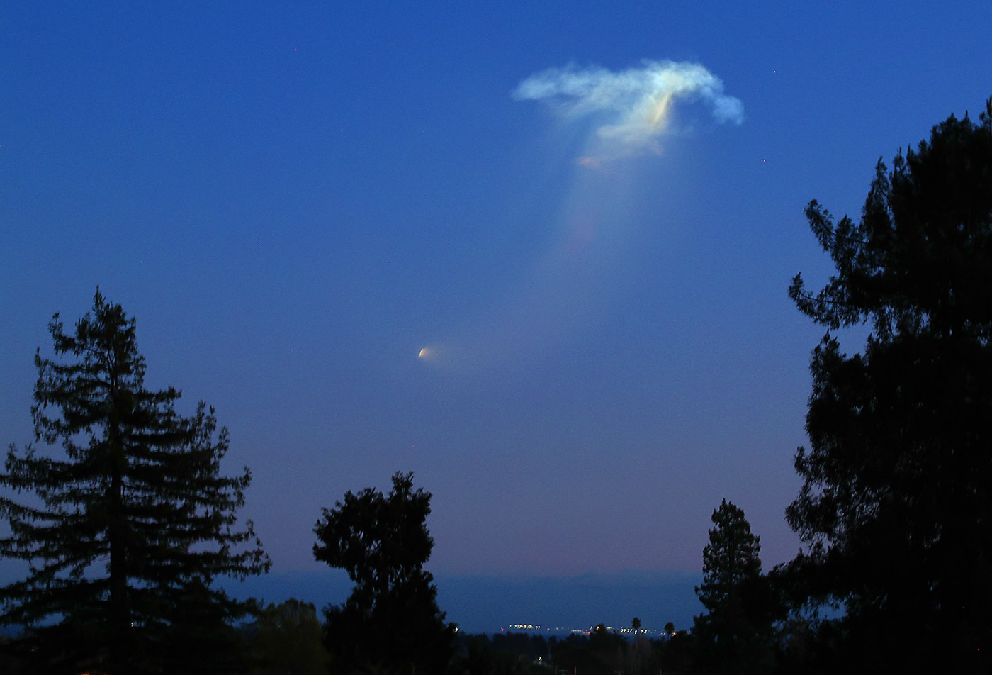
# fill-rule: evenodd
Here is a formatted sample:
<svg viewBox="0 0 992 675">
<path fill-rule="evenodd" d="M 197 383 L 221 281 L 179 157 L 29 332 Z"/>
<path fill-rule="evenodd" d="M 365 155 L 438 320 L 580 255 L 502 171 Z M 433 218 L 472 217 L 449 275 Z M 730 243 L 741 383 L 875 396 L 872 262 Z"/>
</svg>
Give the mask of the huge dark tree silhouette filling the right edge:
<svg viewBox="0 0 992 675">
<path fill-rule="evenodd" d="M 806 207 L 836 273 L 790 288 L 827 333 L 786 573 L 842 607 L 848 671 L 992 669 L 992 98 L 979 120 L 879 160 L 858 222 Z M 833 332 L 857 324 L 847 355 Z"/>
</svg>

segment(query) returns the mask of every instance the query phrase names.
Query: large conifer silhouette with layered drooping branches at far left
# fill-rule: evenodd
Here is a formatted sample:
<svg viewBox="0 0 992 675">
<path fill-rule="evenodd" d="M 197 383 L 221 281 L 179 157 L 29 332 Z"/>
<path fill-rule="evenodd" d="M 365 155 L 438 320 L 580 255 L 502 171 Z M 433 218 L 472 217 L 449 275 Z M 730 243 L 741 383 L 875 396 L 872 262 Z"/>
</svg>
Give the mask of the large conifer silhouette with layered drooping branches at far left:
<svg viewBox="0 0 992 675">
<path fill-rule="evenodd" d="M 181 416 L 176 389 L 145 388 L 134 320 L 99 291 L 74 331 L 59 315 L 49 329 L 57 358 L 35 356 L 32 414 L 36 442 L 61 443 L 64 457 L 7 454 L 0 485 L 35 497 L 0 496 L 0 554 L 31 563 L 0 589 L 0 620 L 28 626 L 34 672 L 231 665 L 222 647 L 246 607 L 211 582 L 269 560 L 250 521 L 236 529 L 251 476 L 220 475 L 227 430 L 203 403 Z"/>
</svg>

